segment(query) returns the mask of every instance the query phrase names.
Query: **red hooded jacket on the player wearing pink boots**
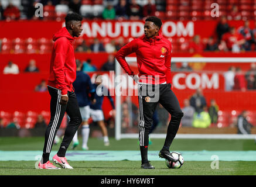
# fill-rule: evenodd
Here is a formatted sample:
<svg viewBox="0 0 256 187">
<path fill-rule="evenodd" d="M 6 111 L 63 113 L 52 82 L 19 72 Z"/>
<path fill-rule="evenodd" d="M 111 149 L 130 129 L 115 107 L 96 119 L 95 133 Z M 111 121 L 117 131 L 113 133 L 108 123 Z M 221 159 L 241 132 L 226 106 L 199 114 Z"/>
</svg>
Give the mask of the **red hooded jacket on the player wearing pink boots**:
<svg viewBox="0 0 256 187">
<path fill-rule="evenodd" d="M 73 91 L 76 79 L 76 60 L 74 57 L 74 37 L 66 27 L 53 35 L 52 58 L 50 61 L 50 76 L 48 85 L 62 90 L 62 95 Z"/>
</svg>

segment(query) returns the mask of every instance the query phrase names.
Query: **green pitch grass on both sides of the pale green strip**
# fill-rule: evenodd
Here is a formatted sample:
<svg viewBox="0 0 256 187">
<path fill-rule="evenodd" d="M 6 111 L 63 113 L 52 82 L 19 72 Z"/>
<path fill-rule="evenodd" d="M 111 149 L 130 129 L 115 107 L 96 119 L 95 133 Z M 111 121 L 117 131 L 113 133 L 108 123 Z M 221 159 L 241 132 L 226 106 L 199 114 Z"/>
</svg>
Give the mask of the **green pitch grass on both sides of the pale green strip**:
<svg viewBox="0 0 256 187">
<path fill-rule="evenodd" d="M 163 139 L 152 139 L 149 150 L 160 150 Z M 80 139 L 81 142 L 81 139 Z M 115 140 L 110 146 L 103 140 L 90 138 L 90 150 L 138 150 L 137 139 Z M 124 146 L 125 145 L 125 146 Z M 43 137 L 0 137 L 1 151 L 41 150 Z M 58 150 L 59 145 L 53 146 Z M 81 150 L 81 144 L 76 150 Z M 175 139 L 172 150 L 256 150 L 253 140 L 185 140 Z M 157 156 L 157 155 L 156 155 Z M 156 169 L 141 169 L 141 161 L 69 161 L 74 169 L 35 169 L 35 161 L 0 161 L 0 175 L 256 175 L 255 161 L 220 161 L 219 169 L 211 169 L 211 161 L 186 161 L 180 169 L 169 169 L 165 161 L 151 161 Z"/>
</svg>

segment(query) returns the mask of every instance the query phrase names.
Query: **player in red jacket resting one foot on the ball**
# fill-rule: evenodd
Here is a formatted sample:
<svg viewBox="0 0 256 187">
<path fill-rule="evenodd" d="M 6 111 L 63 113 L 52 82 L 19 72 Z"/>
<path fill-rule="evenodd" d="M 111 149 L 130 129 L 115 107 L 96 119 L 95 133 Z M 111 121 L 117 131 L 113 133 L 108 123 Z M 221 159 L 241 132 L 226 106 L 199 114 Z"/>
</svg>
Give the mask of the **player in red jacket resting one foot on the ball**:
<svg viewBox="0 0 256 187">
<path fill-rule="evenodd" d="M 144 25 L 145 36 L 132 40 L 122 47 L 116 55 L 118 62 L 127 74 L 132 76 L 135 81 L 138 79 L 139 146 L 142 159 L 141 168 L 143 169 L 154 169 L 148 161 L 148 134 L 151 130 L 152 117 L 158 102 L 172 116 L 159 157 L 169 161 L 178 161 L 172 157 L 169 148 L 179 129 L 183 113 L 178 99 L 171 90 L 170 59 L 172 44 L 159 32 L 161 25 L 162 22 L 159 18 L 155 16 L 147 18 Z M 134 75 L 125 60 L 125 57 L 131 53 L 136 53 L 139 78 Z"/>
</svg>

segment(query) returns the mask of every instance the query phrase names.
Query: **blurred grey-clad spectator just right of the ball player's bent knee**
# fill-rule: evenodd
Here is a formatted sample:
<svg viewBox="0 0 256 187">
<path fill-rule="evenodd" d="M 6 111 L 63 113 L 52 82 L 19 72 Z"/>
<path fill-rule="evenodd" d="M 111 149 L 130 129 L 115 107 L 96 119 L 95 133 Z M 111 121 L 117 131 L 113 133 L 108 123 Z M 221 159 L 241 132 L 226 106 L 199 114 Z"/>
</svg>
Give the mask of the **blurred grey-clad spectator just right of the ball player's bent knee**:
<svg viewBox="0 0 256 187">
<path fill-rule="evenodd" d="M 192 127 L 194 108 L 190 106 L 189 99 L 184 100 L 184 108 L 182 109 L 184 116 L 182 117 L 182 127 Z"/>
</svg>

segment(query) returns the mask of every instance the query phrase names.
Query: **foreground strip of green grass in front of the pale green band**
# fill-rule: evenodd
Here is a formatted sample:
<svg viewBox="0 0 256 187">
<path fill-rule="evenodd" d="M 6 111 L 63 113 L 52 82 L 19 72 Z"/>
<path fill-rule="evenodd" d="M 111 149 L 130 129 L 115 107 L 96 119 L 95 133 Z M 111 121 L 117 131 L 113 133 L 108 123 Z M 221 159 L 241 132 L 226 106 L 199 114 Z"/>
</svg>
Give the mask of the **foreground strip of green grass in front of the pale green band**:
<svg viewBox="0 0 256 187">
<path fill-rule="evenodd" d="M 74 169 L 35 169 L 35 161 L 0 161 L 0 175 L 256 175 L 256 162 L 187 161 L 179 169 L 169 169 L 164 161 L 152 161 L 156 169 L 141 169 L 140 161 L 70 161 Z M 241 169 L 243 168 L 243 169 Z"/>
</svg>

